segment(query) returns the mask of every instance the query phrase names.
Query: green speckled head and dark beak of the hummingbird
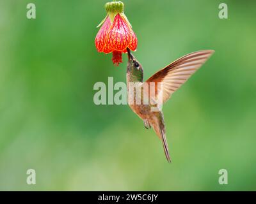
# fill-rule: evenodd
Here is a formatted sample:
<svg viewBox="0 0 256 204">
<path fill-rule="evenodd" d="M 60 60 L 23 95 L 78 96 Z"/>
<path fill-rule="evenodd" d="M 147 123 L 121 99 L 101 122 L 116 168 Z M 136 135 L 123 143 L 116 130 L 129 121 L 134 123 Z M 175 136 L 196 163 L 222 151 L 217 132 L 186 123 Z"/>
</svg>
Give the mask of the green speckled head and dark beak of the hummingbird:
<svg viewBox="0 0 256 204">
<path fill-rule="evenodd" d="M 138 60 L 131 54 L 131 50 L 127 48 L 128 53 L 128 64 L 127 64 L 127 73 L 130 73 L 132 80 L 134 81 L 143 81 L 143 68 L 138 62 Z"/>
</svg>

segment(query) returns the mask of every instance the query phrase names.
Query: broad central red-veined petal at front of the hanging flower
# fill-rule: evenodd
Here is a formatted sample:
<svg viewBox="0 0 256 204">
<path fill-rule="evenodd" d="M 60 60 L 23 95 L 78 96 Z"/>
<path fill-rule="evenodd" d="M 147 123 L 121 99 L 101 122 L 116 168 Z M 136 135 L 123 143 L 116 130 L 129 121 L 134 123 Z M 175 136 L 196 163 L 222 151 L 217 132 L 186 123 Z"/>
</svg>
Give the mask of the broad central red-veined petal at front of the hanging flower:
<svg viewBox="0 0 256 204">
<path fill-rule="evenodd" d="M 109 49 L 122 51 L 131 44 L 131 38 L 129 25 L 117 14 L 107 36 Z"/>
</svg>

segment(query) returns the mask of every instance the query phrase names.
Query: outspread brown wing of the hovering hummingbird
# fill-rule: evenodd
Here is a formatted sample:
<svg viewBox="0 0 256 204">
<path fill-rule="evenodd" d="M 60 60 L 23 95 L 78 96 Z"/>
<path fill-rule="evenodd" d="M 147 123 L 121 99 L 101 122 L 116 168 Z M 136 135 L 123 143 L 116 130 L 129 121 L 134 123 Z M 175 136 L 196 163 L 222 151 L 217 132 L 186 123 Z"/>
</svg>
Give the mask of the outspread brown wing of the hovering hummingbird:
<svg viewBox="0 0 256 204">
<path fill-rule="evenodd" d="M 154 95 L 157 96 L 157 93 L 163 91 L 163 103 L 165 103 L 172 96 L 173 92 L 179 89 L 213 53 L 214 50 L 201 50 L 180 57 L 165 68 L 157 71 L 146 82 L 148 84 L 150 82 L 155 83 Z M 162 83 L 157 85 L 157 82 Z"/>
</svg>

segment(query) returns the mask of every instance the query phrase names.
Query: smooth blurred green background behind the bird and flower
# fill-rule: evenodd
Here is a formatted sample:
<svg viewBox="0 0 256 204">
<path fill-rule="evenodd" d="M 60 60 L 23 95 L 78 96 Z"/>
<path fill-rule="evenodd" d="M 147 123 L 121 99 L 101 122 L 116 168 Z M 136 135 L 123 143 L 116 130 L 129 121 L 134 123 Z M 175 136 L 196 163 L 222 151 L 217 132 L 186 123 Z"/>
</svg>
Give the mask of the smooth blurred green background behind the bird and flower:
<svg viewBox="0 0 256 204">
<path fill-rule="evenodd" d="M 127 57 L 95 49 L 105 3 L 0 1 L 0 190 L 256 190 L 256 2 L 225 1 L 220 19 L 223 1 L 124 0 L 145 78 L 216 50 L 164 106 L 172 164 L 129 106 L 93 103 L 96 82 L 125 82 Z"/>
</svg>

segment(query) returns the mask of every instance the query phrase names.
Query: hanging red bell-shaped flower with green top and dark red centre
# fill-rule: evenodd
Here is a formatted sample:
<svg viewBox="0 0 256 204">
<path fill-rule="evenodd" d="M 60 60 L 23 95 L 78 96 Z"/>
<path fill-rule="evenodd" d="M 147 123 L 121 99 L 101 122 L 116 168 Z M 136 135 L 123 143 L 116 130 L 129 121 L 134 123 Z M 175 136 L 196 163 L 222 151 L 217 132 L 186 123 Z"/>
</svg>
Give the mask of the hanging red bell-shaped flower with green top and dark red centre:
<svg viewBox="0 0 256 204">
<path fill-rule="evenodd" d="M 126 53 L 127 48 L 135 51 L 138 40 L 124 14 L 124 3 L 113 1 L 106 3 L 105 8 L 108 15 L 97 26 L 101 27 L 95 38 L 95 46 L 98 52 L 112 52 L 112 61 L 118 66 L 122 62 L 122 53 Z"/>
</svg>

